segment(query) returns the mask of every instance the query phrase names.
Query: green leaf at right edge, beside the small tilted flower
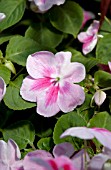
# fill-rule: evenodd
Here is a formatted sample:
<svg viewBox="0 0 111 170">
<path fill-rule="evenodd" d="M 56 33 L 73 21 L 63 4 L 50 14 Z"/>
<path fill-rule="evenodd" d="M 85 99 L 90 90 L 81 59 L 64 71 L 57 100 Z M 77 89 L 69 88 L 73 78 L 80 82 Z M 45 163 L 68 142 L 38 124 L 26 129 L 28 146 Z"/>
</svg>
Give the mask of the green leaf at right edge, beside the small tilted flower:
<svg viewBox="0 0 111 170">
<path fill-rule="evenodd" d="M 111 60 L 111 34 L 104 35 L 97 44 L 96 58 L 101 64 L 108 64 Z"/>
</svg>

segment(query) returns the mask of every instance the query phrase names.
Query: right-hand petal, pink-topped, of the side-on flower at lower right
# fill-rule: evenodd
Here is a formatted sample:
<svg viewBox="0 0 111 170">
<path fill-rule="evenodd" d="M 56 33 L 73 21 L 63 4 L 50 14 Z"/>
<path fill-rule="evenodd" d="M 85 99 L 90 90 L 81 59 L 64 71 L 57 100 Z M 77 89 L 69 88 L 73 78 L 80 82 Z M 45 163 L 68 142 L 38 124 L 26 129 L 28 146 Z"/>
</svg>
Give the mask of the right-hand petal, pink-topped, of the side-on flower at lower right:
<svg viewBox="0 0 111 170">
<path fill-rule="evenodd" d="M 95 138 L 105 147 L 111 149 L 111 132 L 104 128 L 91 128 Z"/>
</svg>

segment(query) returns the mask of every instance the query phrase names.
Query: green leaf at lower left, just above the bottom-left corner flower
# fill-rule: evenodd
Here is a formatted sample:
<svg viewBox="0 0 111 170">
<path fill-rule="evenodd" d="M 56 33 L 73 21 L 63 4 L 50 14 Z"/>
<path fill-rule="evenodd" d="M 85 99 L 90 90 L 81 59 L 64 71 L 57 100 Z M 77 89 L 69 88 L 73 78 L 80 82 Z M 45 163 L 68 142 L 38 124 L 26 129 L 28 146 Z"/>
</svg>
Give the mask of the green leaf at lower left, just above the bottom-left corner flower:
<svg viewBox="0 0 111 170">
<path fill-rule="evenodd" d="M 20 149 L 25 149 L 27 144 L 33 145 L 35 131 L 31 122 L 24 120 L 14 123 L 4 129 L 3 137 L 5 141 L 13 139 Z"/>
</svg>

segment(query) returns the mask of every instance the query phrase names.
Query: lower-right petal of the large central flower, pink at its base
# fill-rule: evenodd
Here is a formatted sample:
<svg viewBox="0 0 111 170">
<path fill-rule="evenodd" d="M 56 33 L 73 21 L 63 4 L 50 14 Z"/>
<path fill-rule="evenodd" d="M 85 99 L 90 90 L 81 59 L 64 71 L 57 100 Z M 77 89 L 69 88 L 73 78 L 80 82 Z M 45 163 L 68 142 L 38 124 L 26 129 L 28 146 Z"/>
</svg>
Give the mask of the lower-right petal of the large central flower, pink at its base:
<svg viewBox="0 0 111 170">
<path fill-rule="evenodd" d="M 85 93 L 82 87 L 69 82 L 62 82 L 58 95 L 58 105 L 63 112 L 70 112 L 85 100 Z"/>
</svg>

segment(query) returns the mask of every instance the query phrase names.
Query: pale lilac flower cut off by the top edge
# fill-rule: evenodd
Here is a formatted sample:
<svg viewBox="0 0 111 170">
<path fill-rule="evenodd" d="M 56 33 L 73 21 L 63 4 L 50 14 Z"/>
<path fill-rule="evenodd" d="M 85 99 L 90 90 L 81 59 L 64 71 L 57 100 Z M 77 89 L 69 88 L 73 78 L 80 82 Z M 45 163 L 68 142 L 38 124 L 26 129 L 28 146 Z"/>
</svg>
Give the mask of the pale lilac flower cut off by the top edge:
<svg viewBox="0 0 111 170">
<path fill-rule="evenodd" d="M 45 12 L 48 9 L 50 9 L 53 5 L 61 5 L 65 2 L 65 0 L 29 0 L 32 1 L 32 4 L 34 3 L 38 11 L 36 12 Z"/>
</svg>

